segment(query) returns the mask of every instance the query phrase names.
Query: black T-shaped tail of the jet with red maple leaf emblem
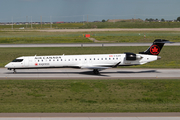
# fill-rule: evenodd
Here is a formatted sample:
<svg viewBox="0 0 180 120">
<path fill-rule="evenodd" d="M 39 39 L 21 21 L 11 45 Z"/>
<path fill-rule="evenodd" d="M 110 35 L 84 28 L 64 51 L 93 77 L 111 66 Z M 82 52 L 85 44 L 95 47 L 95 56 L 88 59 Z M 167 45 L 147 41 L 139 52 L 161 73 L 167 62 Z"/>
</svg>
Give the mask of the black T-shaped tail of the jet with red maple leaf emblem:
<svg viewBox="0 0 180 120">
<path fill-rule="evenodd" d="M 158 55 L 165 43 L 172 43 L 172 42 L 169 42 L 168 40 L 156 39 L 146 51 L 139 52 L 139 54 Z"/>
</svg>

